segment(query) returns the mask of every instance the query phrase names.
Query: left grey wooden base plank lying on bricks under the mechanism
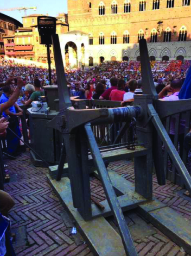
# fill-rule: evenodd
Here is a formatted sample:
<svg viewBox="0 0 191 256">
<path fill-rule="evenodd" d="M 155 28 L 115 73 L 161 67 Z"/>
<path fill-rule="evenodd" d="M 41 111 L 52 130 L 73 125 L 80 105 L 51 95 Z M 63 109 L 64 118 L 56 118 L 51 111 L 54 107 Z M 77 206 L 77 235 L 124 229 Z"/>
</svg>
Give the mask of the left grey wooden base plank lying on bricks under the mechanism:
<svg viewBox="0 0 191 256">
<path fill-rule="evenodd" d="M 68 214 L 75 221 L 81 235 L 91 251 L 97 256 L 125 256 L 122 239 L 104 217 L 84 221 L 78 210 L 73 207 L 72 193 L 68 178 L 56 182 L 47 175 L 50 185 L 65 206 Z"/>
</svg>

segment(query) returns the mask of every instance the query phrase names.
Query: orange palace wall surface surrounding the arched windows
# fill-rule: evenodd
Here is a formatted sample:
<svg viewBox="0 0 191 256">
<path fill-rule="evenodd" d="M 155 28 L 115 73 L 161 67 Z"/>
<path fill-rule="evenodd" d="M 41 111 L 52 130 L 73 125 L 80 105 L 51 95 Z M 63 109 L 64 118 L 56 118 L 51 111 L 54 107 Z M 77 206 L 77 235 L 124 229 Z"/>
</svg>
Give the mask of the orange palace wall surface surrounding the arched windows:
<svg viewBox="0 0 191 256">
<path fill-rule="evenodd" d="M 99 15 L 99 5 L 105 6 L 105 15 Z M 111 14 L 111 4 L 117 3 L 117 14 Z M 90 4 L 91 3 L 91 4 Z M 144 38 L 147 39 L 148 47 L 154 49 L 156 59 L 160 60 L 162 55 L 169 55 L 175 59 L 177 52 L 182 47 L 182 54 L 186 58 L 190 53 L 190 27 L 191 6 L 182 6 L 182 0 L 174 0 L 174 8 L 167 8 L 167 0 L 160 1 L 160 9 L 152 10 L 152 0 L 146 1 L 146 10 L 139 11 L 139 1 L 129 1 L 131 12 L 124 13 L 124 0 L 68 0 L 68 23 L 69 30 L 80 30 L 93 37 L 93 45 L 88 47 L 89 55 L 98 61 L 100 54 L 105 60 L 110 55 L 116 55 L 118 60 L 122 59 L 124 51 L 130 59 L 138 55 L 138 33 L 142 30 Z M 91 8 L 90 8 L 91 6 Z M 180 30 L 187 31 L 186 42 L 179 42 Z M 150 43 L 151 32 L 157 32 L 157 42 Z M 130 36 L 129 43 L 123 43 L 124 32 Z M 171 32 L 171 42 L 163 42 L 164 32 Z M 103 33 L 105 45 L 99 45 L 99 35 Z M 111 44 L 111 34 L 117 35 L 117 44 Z M 166 54 L 164 52 L 166 51 Z"/>
</svg>

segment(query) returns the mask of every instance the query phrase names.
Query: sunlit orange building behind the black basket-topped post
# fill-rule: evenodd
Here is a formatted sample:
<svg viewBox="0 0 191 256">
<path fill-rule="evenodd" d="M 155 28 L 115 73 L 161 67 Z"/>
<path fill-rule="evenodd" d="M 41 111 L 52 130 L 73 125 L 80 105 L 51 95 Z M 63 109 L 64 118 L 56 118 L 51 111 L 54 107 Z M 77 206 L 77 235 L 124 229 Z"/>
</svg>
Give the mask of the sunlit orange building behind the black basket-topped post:
<svg viewBox="0 0 191 256">
<path fill-rule="evenodd" d="M 47 48 L 45 45 L 40 45 L 37 28 L 38 16 L 43 16 L 43 14 L 22 17 L 23 27 L 17 28 L 14 35 L 4 36 L 5 54 L 8 57 L 47 63 Z M 66 33 L 68 31 L 67 15 L 59 14 L 56 18 L 58 19 L 56 21 L 56 33 Z M 54 61 L 52 48 L 50 48 L 50 58 Z"/>
</svg>

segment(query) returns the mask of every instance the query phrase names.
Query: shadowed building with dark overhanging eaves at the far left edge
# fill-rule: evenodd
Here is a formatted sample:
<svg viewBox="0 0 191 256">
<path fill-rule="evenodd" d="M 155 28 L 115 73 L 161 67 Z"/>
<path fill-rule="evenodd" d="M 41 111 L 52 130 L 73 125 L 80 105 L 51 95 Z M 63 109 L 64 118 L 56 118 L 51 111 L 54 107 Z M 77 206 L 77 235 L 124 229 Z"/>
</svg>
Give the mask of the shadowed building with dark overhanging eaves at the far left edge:
<svg viewBox="0 0 191 256">
<path fill-rule="evenodd" d="M 22 27 L 21 22 L 0 13 L 0 57 L 3 57 L 5 54 L 3 36 L 13 35 L 18 27 Z M 14 39 L 10 37 L 9 43 L 13 46 Z"/>
</svg>

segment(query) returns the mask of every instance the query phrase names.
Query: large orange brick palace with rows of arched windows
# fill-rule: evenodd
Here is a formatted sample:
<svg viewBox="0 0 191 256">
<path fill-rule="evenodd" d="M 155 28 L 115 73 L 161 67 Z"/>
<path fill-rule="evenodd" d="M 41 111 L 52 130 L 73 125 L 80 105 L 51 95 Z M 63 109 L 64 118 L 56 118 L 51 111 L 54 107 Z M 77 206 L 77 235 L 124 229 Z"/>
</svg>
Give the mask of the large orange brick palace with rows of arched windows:
<svg viewBox="0 0 191 256">
<path fill-rule="evenodd" d="M 85 37 L 81 44 L 87 45 L 84 51 L 89 61 L 85 65 L 103 60 L 138 60 L 140 38 L 147 39 L 152 60 L 191 58 L 190 0 L 89 1 L 68 0 L 69 33 Z M 77 37 L 73 50 L 78 56 L 81 47 L 77 47 Z M 65 47 L 63 35 L 60 40 Z"/>
</svg>

